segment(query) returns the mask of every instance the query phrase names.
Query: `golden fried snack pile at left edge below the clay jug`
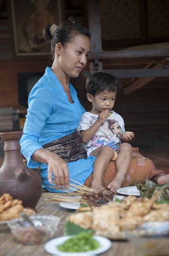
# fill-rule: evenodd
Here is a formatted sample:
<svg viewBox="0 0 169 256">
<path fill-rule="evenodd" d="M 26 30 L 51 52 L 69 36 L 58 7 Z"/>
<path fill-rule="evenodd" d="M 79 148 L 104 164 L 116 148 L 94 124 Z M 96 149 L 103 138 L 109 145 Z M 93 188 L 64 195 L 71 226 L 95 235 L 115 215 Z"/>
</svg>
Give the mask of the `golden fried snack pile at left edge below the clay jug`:
<svg viewBox="0 0 169 256">
<path fill-rule="evenodd" d="M 23 209 L 21 200 L 13 200 L 13 197 L 7 193 L 0 197 L 0 221 L 19 217 L 19 212 L 23 211 Z"/>
</svg>

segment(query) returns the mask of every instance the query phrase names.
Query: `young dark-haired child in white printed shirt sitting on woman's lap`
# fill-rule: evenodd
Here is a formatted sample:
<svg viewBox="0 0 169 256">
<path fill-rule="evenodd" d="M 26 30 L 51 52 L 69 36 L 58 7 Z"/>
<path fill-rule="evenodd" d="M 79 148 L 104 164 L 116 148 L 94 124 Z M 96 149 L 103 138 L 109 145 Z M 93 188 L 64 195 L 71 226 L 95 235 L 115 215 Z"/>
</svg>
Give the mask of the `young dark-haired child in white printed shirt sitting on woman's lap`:
<svg viewBox="0 0 169 256">
<path fill-rule="evenodd" d="M 102 185 L 103 174 L 109 161 L 117 157 L 117 175 L 107 184 L 107 189 L 113 193 L 121 187 L 131 163 L 132 148 L 125 141 L 134 138 L 133 132 L 125 132 L 123 118 L 118 113 L 110 111 L 114 107 L 119 88 L 120 81 L 113 75 L 102 72 L 91 74 L 87 79 L 86 89 L 88 101 L 93 103 L 93 109 L 82 115 L 78 127 L 88 156 L 96 157 L 93 189 L 105 190 Z"/>
</svg>

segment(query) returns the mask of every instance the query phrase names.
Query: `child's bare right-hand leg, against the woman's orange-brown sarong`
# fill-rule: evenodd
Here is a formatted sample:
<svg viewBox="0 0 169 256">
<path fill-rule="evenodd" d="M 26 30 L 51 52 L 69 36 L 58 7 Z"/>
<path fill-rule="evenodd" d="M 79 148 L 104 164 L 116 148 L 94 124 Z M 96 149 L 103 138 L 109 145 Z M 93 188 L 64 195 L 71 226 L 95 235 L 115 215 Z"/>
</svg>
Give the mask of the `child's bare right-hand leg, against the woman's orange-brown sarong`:
<svg viewBox="0 0 169 256">
<path fill-rule="evenodd" d="M 122 143 L 118 149 L 118 157 L 116 158 L 117 174 L 112 182 L 107 185 L 107 189 L 116 193 L 116 190 L 121 187 L 125 179 L 125 174 L 131 164 L 131 145 L 129 143 Z"/>
</svg>

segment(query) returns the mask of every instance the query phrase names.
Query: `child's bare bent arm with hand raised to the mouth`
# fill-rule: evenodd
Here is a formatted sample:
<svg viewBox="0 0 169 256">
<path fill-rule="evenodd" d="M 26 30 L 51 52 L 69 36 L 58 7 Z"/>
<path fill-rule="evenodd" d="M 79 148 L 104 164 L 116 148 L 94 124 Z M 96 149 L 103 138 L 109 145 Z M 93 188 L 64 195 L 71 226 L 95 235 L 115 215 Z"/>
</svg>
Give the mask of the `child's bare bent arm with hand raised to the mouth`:
<svg viewBox="0 0 169 256">
<path fill-rule="evenodd" d="M 94 122 L 94 124 L 85 131 L 80 131 L 81 141 L 83 143 L 88 143 L 94 135 L 96 134 L 97 130 L 100 128 L 102 124 L 104 124 L 105 120 L 107 119 L 108 111 L 101 112 L 98 116 L 98 119 Z"/>
</svg>

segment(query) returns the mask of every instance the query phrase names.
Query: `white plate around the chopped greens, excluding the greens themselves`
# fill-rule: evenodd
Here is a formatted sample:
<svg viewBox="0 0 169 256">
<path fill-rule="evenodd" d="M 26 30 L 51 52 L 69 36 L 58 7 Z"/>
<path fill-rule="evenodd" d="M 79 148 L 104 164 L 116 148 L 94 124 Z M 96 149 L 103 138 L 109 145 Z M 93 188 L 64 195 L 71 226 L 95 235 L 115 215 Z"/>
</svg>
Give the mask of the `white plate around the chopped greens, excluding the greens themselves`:
<svg viewBox="0 0 169 256">
<path fill-rule="evenodd" d="M 72 236 L 61 236 L 55 239 L 52 239 L 45 243 L 44 249 L 53 255 L 64 255 L 64 256 L 82 256 L 82 255 L 97 255 L 108 250 L 112 243 L 109 239 L 102 236 L 93 236 L 100 243 L 100 247 L 96 250 L 87 251 L 87 252 L 64 252 L 57 249 L 57 246 L 64 243 L 67 239 Z"/>
</svg>

